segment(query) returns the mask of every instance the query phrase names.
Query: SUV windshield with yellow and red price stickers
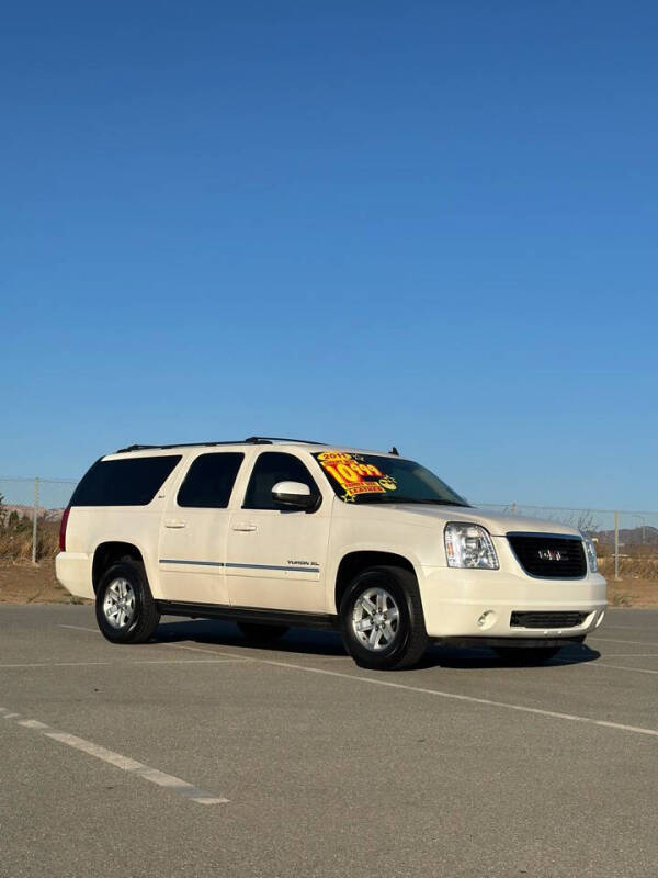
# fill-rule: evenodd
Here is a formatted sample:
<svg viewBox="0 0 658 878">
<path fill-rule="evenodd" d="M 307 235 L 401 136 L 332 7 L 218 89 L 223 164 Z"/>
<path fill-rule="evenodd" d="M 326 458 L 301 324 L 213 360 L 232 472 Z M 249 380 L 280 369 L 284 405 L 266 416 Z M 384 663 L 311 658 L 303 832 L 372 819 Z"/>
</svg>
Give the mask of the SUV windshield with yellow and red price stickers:
<svg viewBox="0 0 658 878">
<path fill-rule="evenodd" d="M 319 451 L 314 457 L 344 503 L 468 506 L 434 473 L 412 460 L 345 451 Z"/>
</svg>

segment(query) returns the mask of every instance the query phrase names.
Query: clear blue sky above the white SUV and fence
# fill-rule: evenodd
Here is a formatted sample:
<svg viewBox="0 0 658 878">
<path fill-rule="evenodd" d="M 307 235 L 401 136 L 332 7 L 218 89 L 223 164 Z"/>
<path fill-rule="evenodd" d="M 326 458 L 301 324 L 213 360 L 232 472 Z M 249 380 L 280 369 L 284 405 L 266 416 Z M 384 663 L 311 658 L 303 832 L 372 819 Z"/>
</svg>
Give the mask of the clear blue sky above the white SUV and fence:
<svg viewBox="0 0 658 878">
<path fill-rule="evenodd" d="M 271 432 L 658 508 L 654 3 L 8 3 L 0 471 Z"/>
</svg>

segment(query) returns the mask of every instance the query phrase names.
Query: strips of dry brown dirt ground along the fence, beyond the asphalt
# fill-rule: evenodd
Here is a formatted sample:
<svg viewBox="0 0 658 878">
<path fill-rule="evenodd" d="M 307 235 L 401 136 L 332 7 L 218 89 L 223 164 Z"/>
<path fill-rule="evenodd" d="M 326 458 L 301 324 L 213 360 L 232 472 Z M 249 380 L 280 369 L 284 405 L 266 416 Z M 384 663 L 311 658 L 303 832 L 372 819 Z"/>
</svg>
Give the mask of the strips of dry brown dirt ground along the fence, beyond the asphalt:
<svg viewBox="0 0 658 878">
<path fill-rule="evenodd" d="M 613 607 L 658 607 L 658 582 L 626 578 L 611 582 L 608 599 Z M 84 604 L 55 578 L 55 565 L 44 561 L 0 562 L 0 604 Z"/>
</svg>

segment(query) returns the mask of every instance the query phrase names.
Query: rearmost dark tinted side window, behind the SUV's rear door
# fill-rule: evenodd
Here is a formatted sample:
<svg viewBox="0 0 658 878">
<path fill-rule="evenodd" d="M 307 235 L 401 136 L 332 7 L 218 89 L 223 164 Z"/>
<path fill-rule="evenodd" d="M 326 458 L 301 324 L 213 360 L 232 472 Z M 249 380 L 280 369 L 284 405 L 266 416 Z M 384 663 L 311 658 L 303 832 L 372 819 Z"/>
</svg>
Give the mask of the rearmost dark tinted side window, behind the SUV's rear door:
<svg viewBox="0 0 658 878">
<path fill-rule="evenodd" d="M 166 454 L 99 460 L 76 488 L 70 505 L 146 506 L 180 459 L 180 454 Z"/>
</svg>

